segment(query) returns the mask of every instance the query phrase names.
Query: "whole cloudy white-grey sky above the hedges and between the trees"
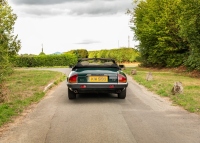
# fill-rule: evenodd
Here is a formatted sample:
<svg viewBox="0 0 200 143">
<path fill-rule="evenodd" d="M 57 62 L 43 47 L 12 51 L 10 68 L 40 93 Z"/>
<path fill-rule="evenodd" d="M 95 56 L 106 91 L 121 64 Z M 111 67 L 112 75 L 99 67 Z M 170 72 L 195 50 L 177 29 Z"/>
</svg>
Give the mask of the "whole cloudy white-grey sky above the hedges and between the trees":
<svg viewBox="0 0 200 143">
<path fill-rule="evenodd" d="M 19 54 L 135 47 L 132 0 L 8 0 L 18 18 Z"/>
</svg>

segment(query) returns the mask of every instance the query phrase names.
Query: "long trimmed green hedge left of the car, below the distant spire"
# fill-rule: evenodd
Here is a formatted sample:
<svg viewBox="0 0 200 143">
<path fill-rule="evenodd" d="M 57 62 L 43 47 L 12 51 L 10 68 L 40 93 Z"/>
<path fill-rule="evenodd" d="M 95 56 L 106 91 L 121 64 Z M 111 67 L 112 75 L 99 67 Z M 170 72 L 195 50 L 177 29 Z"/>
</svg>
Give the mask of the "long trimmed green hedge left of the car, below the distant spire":
<svg viewBox="0 0 200 143">
<path fill-rule="evenodd" d="M 77 62 L 77 57 L 73 54 L 16 56 L 10 61 L 15 67 L 70 66 Z"/>
</svg>

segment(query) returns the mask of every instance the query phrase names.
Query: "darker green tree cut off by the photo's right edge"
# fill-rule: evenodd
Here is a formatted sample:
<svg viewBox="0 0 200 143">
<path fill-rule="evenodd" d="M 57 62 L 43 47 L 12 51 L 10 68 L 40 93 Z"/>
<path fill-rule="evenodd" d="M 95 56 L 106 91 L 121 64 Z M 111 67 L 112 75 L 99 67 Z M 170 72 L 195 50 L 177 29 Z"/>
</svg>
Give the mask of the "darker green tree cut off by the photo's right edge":
<svg viewBox="0 0 200 143">
<path fill-rule="evenodd" d="M 200 71 L 200 1 L 181 0 L 180 35 L 188 41 L 190 53 L 185 65 Z"/>
</svg>

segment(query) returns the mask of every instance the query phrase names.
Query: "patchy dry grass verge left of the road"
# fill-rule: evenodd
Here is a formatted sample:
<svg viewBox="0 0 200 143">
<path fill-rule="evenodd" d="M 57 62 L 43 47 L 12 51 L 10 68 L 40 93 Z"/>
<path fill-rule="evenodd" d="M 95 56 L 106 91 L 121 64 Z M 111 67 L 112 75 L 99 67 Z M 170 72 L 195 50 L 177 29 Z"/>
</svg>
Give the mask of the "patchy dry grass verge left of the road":
<svg viewBox="0 0 200 143">
<path fill-rule="evenodd" d="M 46 85 L 52 82 L 57 85 L 64 79 L 64 74 L 55 71 L 15 70 L 6 80 L 5 101 L 0 104 L 0 126 L 40 101 Z"/>
</svg>

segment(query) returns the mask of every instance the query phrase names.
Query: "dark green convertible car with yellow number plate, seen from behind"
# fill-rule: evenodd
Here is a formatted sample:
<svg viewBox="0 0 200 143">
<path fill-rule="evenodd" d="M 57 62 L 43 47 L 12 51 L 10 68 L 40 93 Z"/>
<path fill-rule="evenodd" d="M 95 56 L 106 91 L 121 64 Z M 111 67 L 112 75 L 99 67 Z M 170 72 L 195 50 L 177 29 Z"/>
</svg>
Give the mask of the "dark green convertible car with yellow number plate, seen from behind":
<svg viewBox="0 0 200 143">
<path fill-rule="evenodd" d="M 126 98 L 127 77 L 113 59 L 84 58 L 72 67 L 67 78 L 68 97 L 81 93 L 115 93 Z"/>
</svg>

